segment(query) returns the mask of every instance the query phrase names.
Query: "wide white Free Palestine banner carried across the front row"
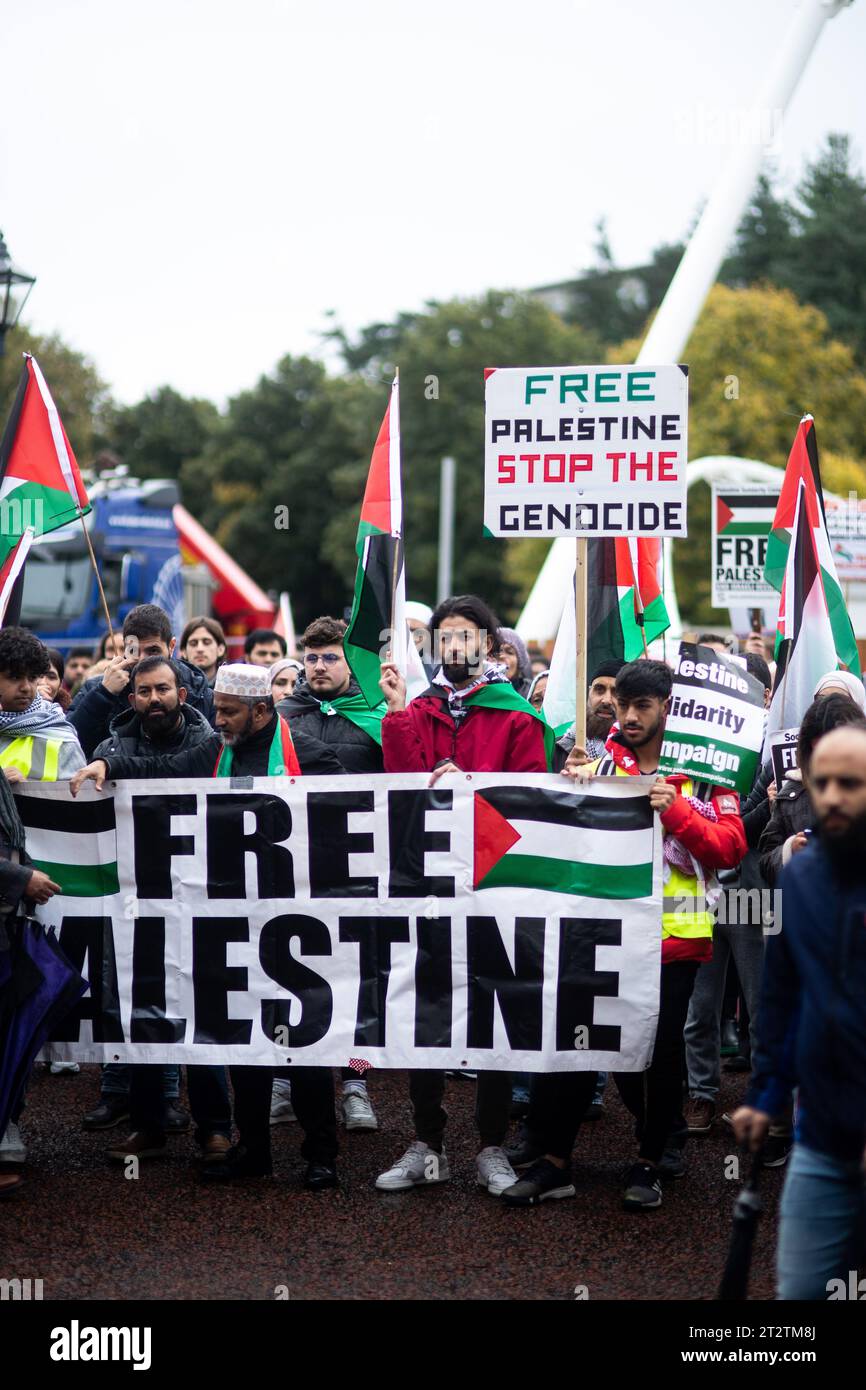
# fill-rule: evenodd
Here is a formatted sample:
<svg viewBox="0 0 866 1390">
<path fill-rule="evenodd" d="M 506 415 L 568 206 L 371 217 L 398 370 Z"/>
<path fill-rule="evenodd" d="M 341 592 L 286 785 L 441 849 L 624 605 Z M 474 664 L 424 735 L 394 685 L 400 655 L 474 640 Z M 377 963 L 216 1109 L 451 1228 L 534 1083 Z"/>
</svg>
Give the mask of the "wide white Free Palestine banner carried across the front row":
<svg viewBox="0 0 866 1390">
<path fill-rule="evenodd" d="M 18 795 L 89 994 L 51 1056 L 641 1070 L 657 1016 L 649 778 L 427 774 Z M 627 929 L 626 929 L 627 923 Z"/>
</svg>

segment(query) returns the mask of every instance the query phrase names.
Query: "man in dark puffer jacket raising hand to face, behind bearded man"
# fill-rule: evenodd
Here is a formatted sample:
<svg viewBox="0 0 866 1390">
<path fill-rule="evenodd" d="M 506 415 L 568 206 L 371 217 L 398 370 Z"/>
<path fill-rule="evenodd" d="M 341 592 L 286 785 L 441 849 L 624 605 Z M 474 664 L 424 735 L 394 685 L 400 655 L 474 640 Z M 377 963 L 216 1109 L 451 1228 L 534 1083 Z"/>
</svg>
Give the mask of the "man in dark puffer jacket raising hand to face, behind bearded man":
<svg viewBox="0 0 866 1390">
<path fill-rule="evenodd" d="M 128 712 L 129 674 L 146 656 L 171 656 L 175 638 L 168 614 L 156 603 L 139 603 L 124 619 L 124 655 L 108 663 L 103 676 L 85 681 L 70 706 L 70 723 L 75 727 L 86 758 L 108 737 L 111 721 Z M 207 677 L 197 666 L 178 662 L 186 689 L 186 703 L 197 709 L 209 724 L 214 723 L 214 696 Z"/>
</svg>

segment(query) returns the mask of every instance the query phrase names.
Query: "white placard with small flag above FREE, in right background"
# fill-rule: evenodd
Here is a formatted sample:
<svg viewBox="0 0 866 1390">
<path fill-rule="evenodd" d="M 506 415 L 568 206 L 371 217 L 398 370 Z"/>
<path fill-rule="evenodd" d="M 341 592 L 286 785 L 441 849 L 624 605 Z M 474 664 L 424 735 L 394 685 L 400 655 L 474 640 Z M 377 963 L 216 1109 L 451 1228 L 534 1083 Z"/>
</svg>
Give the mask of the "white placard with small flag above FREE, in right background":
<svg viewBox="0 0 866 1390">
<path fill-rule="evenodd" d="M 777 503 L 778 491 L 713 484 L 713 607 L 763 607 L 778 602 L 776 589 L 763 577 Z"/>
</svg>

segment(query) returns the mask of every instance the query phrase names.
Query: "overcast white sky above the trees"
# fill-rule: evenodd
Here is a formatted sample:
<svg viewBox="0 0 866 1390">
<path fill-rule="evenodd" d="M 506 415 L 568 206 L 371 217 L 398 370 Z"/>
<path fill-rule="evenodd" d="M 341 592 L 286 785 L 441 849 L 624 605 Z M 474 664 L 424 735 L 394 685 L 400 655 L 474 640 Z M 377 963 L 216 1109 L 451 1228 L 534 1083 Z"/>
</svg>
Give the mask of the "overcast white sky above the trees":
<svg viewBox="0 0 866 1390">
<path fill-rule="evenodd" d="M 29 0 L 3 18 L 0 228 L 121 400 L 227 396 L 425 299 L 683 235 L 795 0 Z M 780 132 L 866 152 L 866 0 Z M 709 133 L 709 139 L 706 135 Z"/>
</svg>

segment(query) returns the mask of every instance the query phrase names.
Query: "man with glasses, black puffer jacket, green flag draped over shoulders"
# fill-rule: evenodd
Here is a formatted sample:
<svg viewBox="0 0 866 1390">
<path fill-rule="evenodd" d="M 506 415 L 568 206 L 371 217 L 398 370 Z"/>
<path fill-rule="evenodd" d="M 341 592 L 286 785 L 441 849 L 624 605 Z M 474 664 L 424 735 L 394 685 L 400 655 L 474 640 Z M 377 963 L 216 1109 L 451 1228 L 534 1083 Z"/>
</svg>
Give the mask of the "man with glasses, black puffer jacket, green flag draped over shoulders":
<svg viewBox="0 0 866 1390">
<path fill-rule="evenodd" d="M 317 617 L 300 642 L 304 676 L 277 706 L 292 734 L 303 731 L 334 749 L 348 773 L 382 771 L 385 702 L 370 709 L 343 653 L 346 624 Z"/>
</svg>

